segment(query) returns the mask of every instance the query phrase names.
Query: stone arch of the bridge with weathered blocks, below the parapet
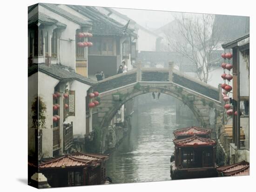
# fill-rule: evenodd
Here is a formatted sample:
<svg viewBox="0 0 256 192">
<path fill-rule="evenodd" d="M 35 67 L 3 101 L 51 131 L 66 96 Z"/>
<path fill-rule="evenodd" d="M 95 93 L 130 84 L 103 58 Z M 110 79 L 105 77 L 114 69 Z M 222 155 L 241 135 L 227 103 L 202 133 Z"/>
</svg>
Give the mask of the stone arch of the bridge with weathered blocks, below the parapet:
<svg viewBox="0 0 256 192">
<path fill-rule="evenodd" d="M 220 102 L 207 96 L 196 93 L 173 82 L 139 82 L 103 92 L 100 94 L 101 105 L 98 108 L 98 117 L 101 127 L 107 127 L 121 106 L 132 98 L 151 92 L 160 92 L 173 96 L 182 101 L 195 115 L 203 127 L 210 124 L 209 111 L 218 109 Z"/>
</svg>

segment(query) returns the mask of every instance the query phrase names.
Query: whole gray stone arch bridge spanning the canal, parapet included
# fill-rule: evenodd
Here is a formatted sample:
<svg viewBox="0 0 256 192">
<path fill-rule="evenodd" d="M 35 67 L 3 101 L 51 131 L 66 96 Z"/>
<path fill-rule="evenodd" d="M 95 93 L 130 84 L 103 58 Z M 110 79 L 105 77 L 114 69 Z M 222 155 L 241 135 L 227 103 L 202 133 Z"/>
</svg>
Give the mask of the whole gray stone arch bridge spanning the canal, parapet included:
<svg viewBox="0 0 256 192">
<path fill-rule="evenodd" d="M 100 105 L 94 108 L 98 112 L 101 128 L 108 127 L 111 119 L 121 106 L 141 94 L 160 92 L 182 101 L 194 113 L 202 127 L 214 128 L 216 116 L 222 112 L 221 90 L 203 83 L 193 77 L 168 68 L 137 68 L 118 74 L 93 87 L 100 93 Z"/>
</svg>

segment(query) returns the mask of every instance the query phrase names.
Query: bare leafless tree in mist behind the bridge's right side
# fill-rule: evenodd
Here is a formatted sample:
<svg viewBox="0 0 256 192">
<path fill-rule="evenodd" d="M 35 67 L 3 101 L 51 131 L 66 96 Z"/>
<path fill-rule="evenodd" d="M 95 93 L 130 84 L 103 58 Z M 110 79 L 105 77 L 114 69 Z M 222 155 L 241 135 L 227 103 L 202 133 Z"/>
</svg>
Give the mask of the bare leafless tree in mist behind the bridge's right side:
<svg viewBox="0 0 256 192">
<path fill-rule="evenodd" d="M 175 28 L 164 30 L 169 51 L 175 51 L 188 58 L 196 66 L 198 78 L 207 83 L 211 67 L 212 53 L 220 47 L 216 38 L 217 27 L 214 15 L 191 15 L 182 13 L 175 16 Z"/>
</svg>

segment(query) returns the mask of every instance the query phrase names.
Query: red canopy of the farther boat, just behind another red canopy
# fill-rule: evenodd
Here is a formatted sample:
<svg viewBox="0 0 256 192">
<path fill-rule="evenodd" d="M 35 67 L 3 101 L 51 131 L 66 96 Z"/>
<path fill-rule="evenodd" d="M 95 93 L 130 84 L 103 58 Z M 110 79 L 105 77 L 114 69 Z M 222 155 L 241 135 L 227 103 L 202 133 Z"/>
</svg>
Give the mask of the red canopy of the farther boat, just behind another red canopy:
<svg viewBox="0 0 256 192">
<path fill-rule="evenodd" d="M 181 128 L 177 129 L 174 132 L 175 137 L 177 136 L 191 136 L 191 135 L 205 135 L 210 134 L 211 129 L 208 128 L 200 128 L 196 126 L 188 127 L 188 128 Z"/>
</svg>

